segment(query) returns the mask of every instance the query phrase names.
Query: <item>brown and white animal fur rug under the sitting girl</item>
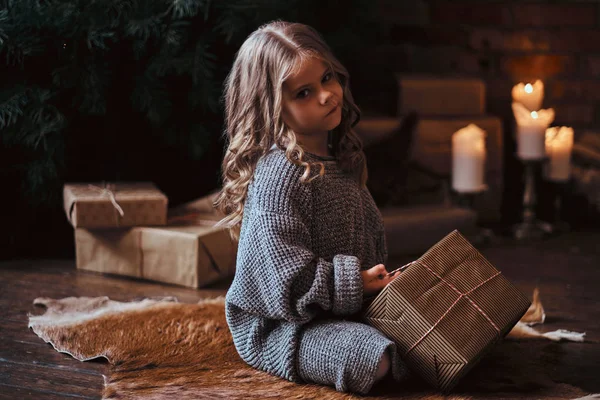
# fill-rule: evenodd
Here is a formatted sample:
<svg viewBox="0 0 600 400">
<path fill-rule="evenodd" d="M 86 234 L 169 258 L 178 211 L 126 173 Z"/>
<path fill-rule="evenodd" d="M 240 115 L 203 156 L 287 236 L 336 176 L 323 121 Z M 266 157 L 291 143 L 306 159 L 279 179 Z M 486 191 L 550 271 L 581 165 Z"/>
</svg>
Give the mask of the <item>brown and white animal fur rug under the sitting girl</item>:
<svg viewBox="0 0 600 400">
<path fill-rule="evenodd" d="M 109 361 L 103 399 L 572 399 L 587 394 L 551 379 L 548 352 L 560 352 L 556 347 L 561 345 L 548 346 L 545 339 L 561 336 L 540 336 L 526 325 L 544 320 L 537 293 L 507 337 L 516 341 L 498 344 L 450 396 L 431 391 L 416 377 L 402 387 L 384 380 L 361 397 L 254 370 L 235 351 L 223 298 L 181 304 L 173 298 L 121 303 L 107 297 L 69 297 L 39 298 L 34 304 L 47 310 L 30 315 L 29 326 L 57 351 L 81 361 Z M 570 340 L 583 340 L 582 335 L 568 334 Z M 523 342 L 540 337 L 544 340 Z"/>
</svg>

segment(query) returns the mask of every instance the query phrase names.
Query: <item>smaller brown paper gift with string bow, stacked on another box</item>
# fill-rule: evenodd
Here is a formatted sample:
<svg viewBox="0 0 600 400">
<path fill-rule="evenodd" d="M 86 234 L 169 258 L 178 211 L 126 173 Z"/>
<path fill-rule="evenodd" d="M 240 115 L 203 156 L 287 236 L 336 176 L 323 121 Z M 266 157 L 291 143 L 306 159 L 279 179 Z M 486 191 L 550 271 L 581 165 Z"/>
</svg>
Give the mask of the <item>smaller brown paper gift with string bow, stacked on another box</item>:
<svg viewBox="0 0 600 400">
<path fill-rule="evenodd" d="M 75 228 L 167 223 L 167 197 L 150 182 L 66 184 L 63 201 L 67 218 Z"/>
</svg>

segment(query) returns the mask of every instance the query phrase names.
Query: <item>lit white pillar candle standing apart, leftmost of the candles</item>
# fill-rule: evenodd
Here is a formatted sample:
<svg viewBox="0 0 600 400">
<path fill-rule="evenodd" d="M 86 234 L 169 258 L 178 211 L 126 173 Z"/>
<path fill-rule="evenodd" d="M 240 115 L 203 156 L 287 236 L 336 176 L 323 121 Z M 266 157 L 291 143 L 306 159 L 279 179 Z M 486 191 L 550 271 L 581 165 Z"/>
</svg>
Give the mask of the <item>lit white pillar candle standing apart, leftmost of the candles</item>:
<svg viewBox="0 0 600 400">
<path fill-rule="evenodd" d="M 485 131 L 470 124 L 452 135 L 452 188 L 457 192 L 485 189 Z"/>
</svg>

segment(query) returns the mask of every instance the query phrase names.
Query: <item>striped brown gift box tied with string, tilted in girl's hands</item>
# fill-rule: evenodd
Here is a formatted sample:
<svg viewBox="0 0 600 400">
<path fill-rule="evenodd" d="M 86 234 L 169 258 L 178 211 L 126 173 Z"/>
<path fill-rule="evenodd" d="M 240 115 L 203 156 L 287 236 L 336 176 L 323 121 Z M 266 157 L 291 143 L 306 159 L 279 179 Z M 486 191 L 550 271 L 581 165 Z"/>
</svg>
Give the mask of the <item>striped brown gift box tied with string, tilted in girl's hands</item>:
<svg viewBox="0 0 600 400">
<path fill-rule="evenodd" d="M 388 284 L 364 318 L 397 344 L 411 370 L 447 392 L 529 305 L 455 230 Z"/>
</svg>

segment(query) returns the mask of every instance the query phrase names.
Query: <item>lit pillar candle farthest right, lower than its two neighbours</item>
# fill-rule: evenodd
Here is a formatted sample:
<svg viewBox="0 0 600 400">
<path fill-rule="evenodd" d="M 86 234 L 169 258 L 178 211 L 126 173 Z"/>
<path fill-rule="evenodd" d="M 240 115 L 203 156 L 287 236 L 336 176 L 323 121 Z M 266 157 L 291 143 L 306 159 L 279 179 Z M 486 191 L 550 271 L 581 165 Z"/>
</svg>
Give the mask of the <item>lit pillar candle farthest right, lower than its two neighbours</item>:
<svg viewBox="0 0 600 400">
<path fill-rule="evenodd" d="M 571 174 L 573 128 L 552 127 L 546 130 L 546 177 L 552 181 L 567 181 Z"/>
</svg>

